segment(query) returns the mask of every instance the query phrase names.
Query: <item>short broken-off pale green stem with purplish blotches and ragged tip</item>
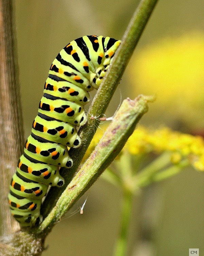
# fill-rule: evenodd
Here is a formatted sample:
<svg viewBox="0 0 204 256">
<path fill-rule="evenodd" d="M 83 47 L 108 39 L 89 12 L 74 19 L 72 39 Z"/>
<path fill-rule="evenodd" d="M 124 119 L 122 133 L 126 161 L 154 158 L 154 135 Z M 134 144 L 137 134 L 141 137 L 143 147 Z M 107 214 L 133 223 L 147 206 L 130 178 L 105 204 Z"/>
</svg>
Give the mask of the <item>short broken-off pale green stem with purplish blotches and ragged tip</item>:
<svg viewBox="0 0 204 256">
<path fill-rule="evenodd" d="M 150 96 L 138 96 L 135 100 L 124 100 L 106 129 L 95 150 L 67 186 L 56 206 L 36 229 L 37 233 L 50 231 L 52 226 L 90 188 L 101 173 L 111 164 L 132 134 L 141 116 L 148 110 Z"/>
</svg>

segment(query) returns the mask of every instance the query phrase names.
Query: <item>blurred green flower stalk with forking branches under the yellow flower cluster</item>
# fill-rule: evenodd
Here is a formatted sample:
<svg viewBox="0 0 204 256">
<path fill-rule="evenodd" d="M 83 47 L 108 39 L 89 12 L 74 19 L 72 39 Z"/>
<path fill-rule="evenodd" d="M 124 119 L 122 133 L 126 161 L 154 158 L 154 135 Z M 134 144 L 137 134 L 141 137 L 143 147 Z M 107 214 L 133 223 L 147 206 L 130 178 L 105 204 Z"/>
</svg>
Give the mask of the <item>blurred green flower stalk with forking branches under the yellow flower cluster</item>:
<svg viewBox="0 0 204 256">
<path fill-rule="evenodd" d="M 124 164 L 126 163 L 125 157 L 120 158 L 123 165 L 118 165 L 118 168 L 125 168 Z M 129 159 L 130 160 L 130 159 Z M 141 187 L 146 187 L 153 182 L 160 182 L 169 177 L 172 177 L 182 170 L 186 166 L 189 165 L 189 161 L 187 159 L 181 161 L 177 165 L 173 165 L 161 171 L 163 167 L 165 167 L 168 163 L 170 163 L 169 153 L 164 153 L 161 156 L 157 157 L 150 165 L 148 165 L 143 171 L 141 175 L 134 175 L 131 177 L 127 177 L 125 172 L 120 171 L 122 174 L 121 183 L 123 188 L 123 200 L 122 200 L 122 210 L 121 210 L 121 226 L 119 231 L 119 236 L 116 242 L 114 256 L 125 256 L 126 248 L 128 243 L 128 231 L 129 231 L 129 223 L 131 217 L 132 210 L 132 199 L 134 196 L 135 190 Z M 129 172 L 128 172 L 129 173 Z M 133 175 L 133 174 L 132 174 Z M 133 182 L 132 182 L 133 181 Z"/>
</svg>

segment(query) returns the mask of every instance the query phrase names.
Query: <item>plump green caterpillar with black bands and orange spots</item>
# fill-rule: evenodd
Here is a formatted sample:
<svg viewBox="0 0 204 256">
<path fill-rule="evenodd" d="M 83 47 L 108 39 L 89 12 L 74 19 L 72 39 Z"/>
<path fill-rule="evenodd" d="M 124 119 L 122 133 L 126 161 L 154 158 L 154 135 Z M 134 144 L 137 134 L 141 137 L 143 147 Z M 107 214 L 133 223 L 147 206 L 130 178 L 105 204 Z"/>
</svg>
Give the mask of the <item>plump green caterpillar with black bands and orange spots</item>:
<svg viewBox="0 0 204 256">
<path fill-rule="evenodd" d="M 11 213 L 22 227 L 39 225 L 48 187 L 64 185 L 59 168 L 72 166 L 68 147 L 81 144 L 77 127 L 86 123 L 88 92 L 98 89 L 119 45 L 113 38 L 87 35 L 67 44 L 52 62 L 8 194 Z"/>
</svg>

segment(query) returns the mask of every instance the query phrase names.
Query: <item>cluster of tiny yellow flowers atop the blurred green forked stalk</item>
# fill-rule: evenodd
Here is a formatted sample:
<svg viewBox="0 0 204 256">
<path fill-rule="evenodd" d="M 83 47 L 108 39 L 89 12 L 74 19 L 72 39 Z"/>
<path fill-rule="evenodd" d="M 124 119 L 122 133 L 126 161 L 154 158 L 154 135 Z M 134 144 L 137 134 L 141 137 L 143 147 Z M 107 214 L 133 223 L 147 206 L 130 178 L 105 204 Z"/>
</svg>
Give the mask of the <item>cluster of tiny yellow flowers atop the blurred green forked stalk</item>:
<svg viewBox="0 0 204 256">
<path fill-rule="evenodd" d="M 85 158 L 94 150 L 101 137 L 101 131 L 96 133 Z M 204 139 L 199 136 L 173 131 L 167 127 L 159 129 L 138 127 L 125 144 L 122 153 L 124 151 L 128 151 L 131 155 L 170 152 L 169 161 L 173 164 L 188 159 L 189 164 L 195 169 L 204 171 Z"/>
</svg>

